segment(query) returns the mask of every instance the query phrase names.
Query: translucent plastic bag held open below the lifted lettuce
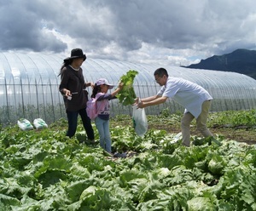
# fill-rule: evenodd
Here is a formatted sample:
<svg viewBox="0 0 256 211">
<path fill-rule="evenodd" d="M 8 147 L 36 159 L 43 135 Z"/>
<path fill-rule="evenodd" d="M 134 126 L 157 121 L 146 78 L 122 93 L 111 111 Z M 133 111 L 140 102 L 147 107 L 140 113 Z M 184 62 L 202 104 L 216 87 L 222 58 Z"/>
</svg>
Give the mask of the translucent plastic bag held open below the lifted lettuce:
<svg viewBox="0 0 256 211">
<path fill-rule="evenodd" d="M 144 108 L 132 106 L 132 123 L 135 132 L 139 136 L 143 136 L 148 131 L 148 119 Z"/>
</svg>

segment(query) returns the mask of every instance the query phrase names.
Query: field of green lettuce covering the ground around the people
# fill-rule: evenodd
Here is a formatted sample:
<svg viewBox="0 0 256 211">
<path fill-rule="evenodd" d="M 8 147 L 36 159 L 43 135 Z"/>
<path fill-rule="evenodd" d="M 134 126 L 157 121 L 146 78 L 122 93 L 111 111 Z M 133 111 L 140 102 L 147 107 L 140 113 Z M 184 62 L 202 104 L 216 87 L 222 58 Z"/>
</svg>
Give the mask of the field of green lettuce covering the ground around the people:
<svg viewBox="0 0 256 211">
<path fill-rule="evenodd" d="M 179 120 L 167 111 L 148 117 L 148 133 L 139 137 L 131 117 L 113 118 L 113 151 L 123 158 L 84 142 L 81 123 L 73 139 L 64 119 L 41 130 L 1 128 L 0 210 L 256 210 L 255 145 L 215 129 L 222 145 L 192 134 L 185 147 Z M 255 126 L 255 111 L 209 117 L 210 129 L 220 131 L 256 134 Z"/>
</svg>

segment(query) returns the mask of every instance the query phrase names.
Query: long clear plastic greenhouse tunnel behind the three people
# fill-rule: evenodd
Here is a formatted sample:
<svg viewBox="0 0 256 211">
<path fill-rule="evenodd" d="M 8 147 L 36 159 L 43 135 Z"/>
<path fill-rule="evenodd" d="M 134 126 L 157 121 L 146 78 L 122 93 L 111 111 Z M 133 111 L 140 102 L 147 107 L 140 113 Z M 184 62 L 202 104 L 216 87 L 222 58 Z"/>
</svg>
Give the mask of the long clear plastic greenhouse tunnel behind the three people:
<svg viewBox="0 0 256 211">
<path fill-rule="evenodd" d="M 32 121 L 43 118 L 53 123 L 66 117 L 58 77 L 63 59 L 61 54 L 0 53 L 0 124 L 16 123 L 20 118 Z M 96 82 L 105 77 L 118 84 L 119 78 L 129 70 L 138 71 L 134 81 L 138 97 L 156 94 L 160 86 L 154 81 L 154 71 L 160 64 L 135 64 L 119 60 L 85 60 L 82 68 L 86 82 Z M 256 80 L 252 77 L 225 71 L 188 69 L 163 66 L 170 76 L 183 77 L 200 84 L 212 95 L 212 111 L 247 110 L 256 108 Z M 91 88 L 88 88 L 91 94 Z M 131 106 L 122 106 L 111 100 L 112 115 L 131 114 Z M 146 108 L 147 114 L 159 114 L 168 108 L 170 112 L 183 111 L 172 100 L 160 106 Z"/>
</svg>

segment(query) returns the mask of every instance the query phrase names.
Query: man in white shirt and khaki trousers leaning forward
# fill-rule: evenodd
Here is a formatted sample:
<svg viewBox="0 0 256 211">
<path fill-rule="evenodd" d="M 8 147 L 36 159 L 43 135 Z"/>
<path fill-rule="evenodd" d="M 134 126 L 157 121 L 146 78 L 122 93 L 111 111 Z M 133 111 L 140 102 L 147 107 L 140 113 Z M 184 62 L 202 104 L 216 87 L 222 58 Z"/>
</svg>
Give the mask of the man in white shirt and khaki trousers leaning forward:
<svg viewBox="0 0 256 211">
<path fill-rule="evenodd" d="M 139 108 L 155 106 L 166 102 L 168 98 L 175 100 L 185 108 L 181 120 L 183 145 L 190 145 L 190 123 L 195 118 L 196 128 L 204 137 L 213 136 L 207 128 L 207 117 L 211 107 L 212 96 L 206 89 L 183 78 L 169 77 L 164 68 L 154 71 L 154 79 L 160 84 L 160 91 L 151 97 L 141 99 Z"/>
</svg>

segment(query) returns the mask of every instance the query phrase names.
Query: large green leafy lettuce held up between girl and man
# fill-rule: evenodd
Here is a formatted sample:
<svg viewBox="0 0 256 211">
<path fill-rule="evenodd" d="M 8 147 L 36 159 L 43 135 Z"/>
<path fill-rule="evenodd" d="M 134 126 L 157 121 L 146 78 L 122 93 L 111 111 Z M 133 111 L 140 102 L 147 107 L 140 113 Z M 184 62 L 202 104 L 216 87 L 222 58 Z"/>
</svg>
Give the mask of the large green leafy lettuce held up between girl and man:
<svg viewBox="0 0 256 211">
<path fill-rule="evenodd" d="M 120 77 L 120 82 L 124 83 L 124 87 L 117 94 L 117 98 L 119 99 L 119 103 L 124 106 L 132 105 L 134 103 L 134 99 L 136 98 L 136 94 L 133 88 L 134 78 L 137 76 L 137 71 L 127 71 L 125 75 Z"/>
</svg>

